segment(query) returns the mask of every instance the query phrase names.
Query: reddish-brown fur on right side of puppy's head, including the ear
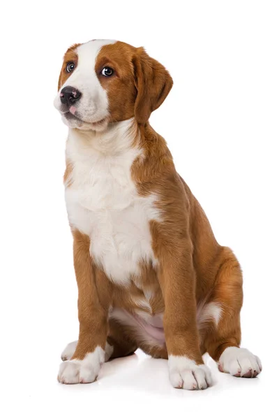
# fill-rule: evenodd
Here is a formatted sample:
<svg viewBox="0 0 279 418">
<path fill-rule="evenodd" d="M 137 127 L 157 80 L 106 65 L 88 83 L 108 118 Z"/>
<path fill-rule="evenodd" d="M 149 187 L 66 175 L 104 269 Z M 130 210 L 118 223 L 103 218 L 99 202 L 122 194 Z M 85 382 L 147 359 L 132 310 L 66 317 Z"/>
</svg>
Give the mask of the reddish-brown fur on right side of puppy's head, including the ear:
<svg viewBox="0 0 279 418">
<path fill-rule="evenodd" d="M 104 77 L 104 67 L 113 68 L 114 75 Z M 98 54 L 95 70 L 107 90 L 112 122 L 135 116 L 138 123 L 146 123 L 151 111 L 158 109 L 172 88 L 172 77 L 162 64 L 143 48 L 124 42 L 105 45 Z"/>
</svg>

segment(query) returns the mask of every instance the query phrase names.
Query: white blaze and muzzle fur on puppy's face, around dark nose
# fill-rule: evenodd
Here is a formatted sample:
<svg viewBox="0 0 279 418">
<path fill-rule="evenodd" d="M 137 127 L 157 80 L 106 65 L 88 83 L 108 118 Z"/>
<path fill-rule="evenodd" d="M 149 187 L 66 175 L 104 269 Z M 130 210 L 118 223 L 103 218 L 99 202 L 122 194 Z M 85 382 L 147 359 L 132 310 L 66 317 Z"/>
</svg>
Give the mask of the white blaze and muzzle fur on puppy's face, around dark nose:
<svg viewBox="0 0 279 418">
<path fill-rule="evenodd" d="M 80 45 L 75 50 L 78 56 L 77 67 L 63 86 L 61 86 L 54 100 L 54 106 L 61 111 L 63 122 L 69 127 L 92 129 L 92 123 L 96 123 L 109 116 L 107 93 L 96 75 L 95 64 L 100 49 L 104 45 L 109 45 L 114 42 L 116 41 L 91 40 Z M 72 118 L 68 120 L 63 116 L 60 93 L 62 88 L 66 86 L 77 88 L 82 93 L 80 100 L 75 104 L 77 108 L 76 115 L 80 119 Z"/>
</svg>

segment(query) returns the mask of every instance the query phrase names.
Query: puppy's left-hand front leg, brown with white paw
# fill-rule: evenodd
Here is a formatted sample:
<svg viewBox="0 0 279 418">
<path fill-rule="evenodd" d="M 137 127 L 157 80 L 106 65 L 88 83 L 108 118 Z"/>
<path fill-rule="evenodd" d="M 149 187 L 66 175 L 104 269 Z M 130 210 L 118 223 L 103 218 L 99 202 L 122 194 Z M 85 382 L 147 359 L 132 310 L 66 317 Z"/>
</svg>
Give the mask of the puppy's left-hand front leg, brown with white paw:
<svg viewBox="0 0 279 418">
<path fill-rule="evenodd" d="M 110 284 L 103 283 L 102 294 L 97 291 L 97 282 L 107 278 L 93 266 L 89 253 L 87 235 L 73 231 L 75 275 L 78 287 L 78 314 L 80 335 L 75 353 L 63 362 L 59 369 L 61 383 L 90 383 L 96 380 L 100 367 L 105 362 L 105 343 L 108 332 L 108 309 Z"/>
</svg>

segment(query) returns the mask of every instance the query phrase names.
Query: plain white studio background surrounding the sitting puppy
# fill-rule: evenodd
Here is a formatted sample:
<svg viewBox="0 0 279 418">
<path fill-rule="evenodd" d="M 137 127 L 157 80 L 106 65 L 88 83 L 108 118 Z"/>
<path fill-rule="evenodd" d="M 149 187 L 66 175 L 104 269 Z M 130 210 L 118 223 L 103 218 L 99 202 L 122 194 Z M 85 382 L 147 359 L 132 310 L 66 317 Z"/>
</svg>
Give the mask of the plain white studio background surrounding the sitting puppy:
<svg viewBox="0 0 279 418">
<path fill-rule="evenodd" d="M 278 391 L 278 1 L 6 1 L 1 10 L 1 392 L 3 417 L 261 416 Z M 151 124 L 243 267 L 243 346 L 254 380 L 216 371 L 172 389 L 167 362 L 137 353 L 98 382 L 56 382 L 77 338 L 63 201 L 67 128 L 52 102 L 63 53 L 112 38 L 163 63 L 174 87 Z M 275 414 L 275 410 L 273 410 Z M 272 415 L 274 416 L 274 415 Z"/>
</svg>

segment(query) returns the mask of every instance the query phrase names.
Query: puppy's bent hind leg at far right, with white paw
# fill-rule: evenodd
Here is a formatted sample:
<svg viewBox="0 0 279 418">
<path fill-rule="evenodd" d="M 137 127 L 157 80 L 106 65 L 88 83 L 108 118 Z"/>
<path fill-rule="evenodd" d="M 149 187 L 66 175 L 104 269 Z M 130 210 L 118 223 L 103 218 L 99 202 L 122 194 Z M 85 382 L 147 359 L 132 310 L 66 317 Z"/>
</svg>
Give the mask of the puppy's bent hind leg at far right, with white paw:
<svg viewBox="0 0 279 418">
<path fill-rule="evenodd" d="M 203 332 L 202 351 L 208 352 L 218 362 L 220 371 L 236 377 L 255 378 L 262 371 L 259 357 L 246 348 L 239 348 L 242 301 L 241 268 L 232 250 L 224 247 L 213 293 L 201 315 L 207 320 L 204 323 L 206 332 Z"/>
</svg>

